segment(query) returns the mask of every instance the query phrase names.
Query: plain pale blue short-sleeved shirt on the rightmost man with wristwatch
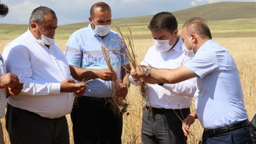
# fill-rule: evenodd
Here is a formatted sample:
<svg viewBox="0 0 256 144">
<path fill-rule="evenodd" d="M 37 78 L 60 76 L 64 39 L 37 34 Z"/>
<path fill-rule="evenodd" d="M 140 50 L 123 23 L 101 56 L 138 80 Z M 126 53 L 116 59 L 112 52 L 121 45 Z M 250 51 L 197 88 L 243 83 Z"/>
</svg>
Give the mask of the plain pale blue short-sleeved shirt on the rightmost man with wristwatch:
<svg viewBox="0 0 256 144">
<path fill-rule="evenodd" d="M 239 72 L 226 48 L 208 40 L 184 66 L 199 76 L 195 108 L 203 128 L 226 127 L 248 118 Z"/>
</svg>

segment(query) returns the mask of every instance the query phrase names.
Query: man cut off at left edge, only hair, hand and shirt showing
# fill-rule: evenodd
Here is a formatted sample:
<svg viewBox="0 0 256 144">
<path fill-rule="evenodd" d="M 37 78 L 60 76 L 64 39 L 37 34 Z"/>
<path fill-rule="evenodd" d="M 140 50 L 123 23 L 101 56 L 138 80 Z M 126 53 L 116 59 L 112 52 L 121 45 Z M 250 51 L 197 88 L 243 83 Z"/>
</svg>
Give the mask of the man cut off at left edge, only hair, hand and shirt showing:
<svg viewBox="0 0 256 144">
<path fill-rule="evenodd" d="M 0 3 L 0 18 L 5 17 L 9 9 L 5 4 Z M 6 108 L 6 97 L 18 95 L 23 88 L 19 78 L 11 73 L 6 73 L 3 57 L 0 54 L 0 118 L 4 117 Z M 0 122 L 0 144 L 4 144 L 2 124 Z"/>
</svg>

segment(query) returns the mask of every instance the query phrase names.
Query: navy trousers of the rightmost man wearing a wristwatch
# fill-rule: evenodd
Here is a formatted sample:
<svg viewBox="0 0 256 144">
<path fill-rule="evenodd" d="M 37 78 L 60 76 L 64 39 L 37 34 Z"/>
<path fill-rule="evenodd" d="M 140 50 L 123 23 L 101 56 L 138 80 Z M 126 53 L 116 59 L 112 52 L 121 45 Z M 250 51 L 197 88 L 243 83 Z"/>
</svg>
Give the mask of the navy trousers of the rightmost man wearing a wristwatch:
<svg viewBox="0 0 256 144">
<path fill-rule="evenodd" d="M 207 136 L 203 132 L 203 144 L 252 144 L 250 125 L 217 136 Z"/>
</svg>

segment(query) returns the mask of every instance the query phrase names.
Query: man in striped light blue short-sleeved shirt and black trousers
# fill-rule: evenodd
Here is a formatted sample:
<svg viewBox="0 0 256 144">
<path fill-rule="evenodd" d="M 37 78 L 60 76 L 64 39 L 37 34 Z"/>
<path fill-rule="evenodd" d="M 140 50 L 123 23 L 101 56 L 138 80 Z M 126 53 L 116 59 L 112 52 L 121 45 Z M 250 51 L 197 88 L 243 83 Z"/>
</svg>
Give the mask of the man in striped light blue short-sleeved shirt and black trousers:
<svg viewBox="0 0 256 144">
<path fill-rule="evenodd" d="M 130 61 L 126 57 L 124 44 L 119 41 L 121 37 L 110 30 L 111 9 L 108 4 L 93 4 L 89 21 L 88 27 L 77 30 L 70 36 L 64 52 L 71 75 L 75 79 L 93 79 L 86 83 L 86 92 L 77 98 L 77 104 L 71 112 L 74 143 L 121 144 L 122 115 L 114 114 L 106 100 L 113 95 L 113 79 L 121 80 L 121 88 L 115 96 L 121 99 L 126 97 Z M 109 52 L 115 71 L 108 70 L 102 46 Z"/>
</svg>

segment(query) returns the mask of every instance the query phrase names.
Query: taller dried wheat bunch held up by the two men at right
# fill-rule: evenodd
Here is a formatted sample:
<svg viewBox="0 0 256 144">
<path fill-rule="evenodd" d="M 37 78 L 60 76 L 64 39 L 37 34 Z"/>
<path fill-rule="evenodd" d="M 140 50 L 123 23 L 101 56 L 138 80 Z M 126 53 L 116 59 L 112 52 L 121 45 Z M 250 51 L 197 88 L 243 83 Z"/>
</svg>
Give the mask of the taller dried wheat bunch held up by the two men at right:
<svg viewBox="0 0 256 144">
<path fill-rule="evenodd" d="M 125 57 L 130 60 L 131 67 L 136 69 L 136 66 L 137 66 L 136 57 L 138 57 L 138 56 L 136 56 L 136 54 L 135 54 L 132 30 L 131 30 L 131 28 L 127 27 L 129 32 L 127 33 L 127 40 L 124 40 L 124 37 L 123 37 L 123 34 L 122 34 L 120 28 L 118 26 L 116 26 L 116 28 L 117 28 L 118 33 L 121 36 L 121 37 L 119 37 L 120 38 L 119 41 L 121 41 L 125 45 L 126 51 L 128 53 L 128 56 L 125 55 Z M 117 40 L 112 40 L 112 41 L 117 42 Z M 122 48 L 122 46 L 119 44 L 119 42 L 117 42 L 117 43 Z M 139 83 L 139 87 L 138 87 L 139 93 L 142 98 L 142 101 L 147 102 L 149 104 L 149 108 L 151 111 L 151 106 L 150 106 L 149 99 L 147 98 L 147 93 L 146 93 L 146 91 L 148 89 L 148 85 L 146 83 L 144 83 L 144 81 L 142 79 L 139 79 L 138 83 Z"/>
</svg>

